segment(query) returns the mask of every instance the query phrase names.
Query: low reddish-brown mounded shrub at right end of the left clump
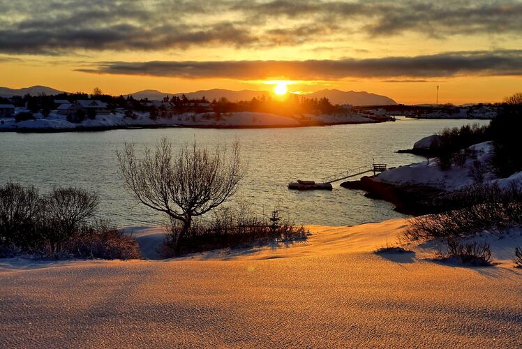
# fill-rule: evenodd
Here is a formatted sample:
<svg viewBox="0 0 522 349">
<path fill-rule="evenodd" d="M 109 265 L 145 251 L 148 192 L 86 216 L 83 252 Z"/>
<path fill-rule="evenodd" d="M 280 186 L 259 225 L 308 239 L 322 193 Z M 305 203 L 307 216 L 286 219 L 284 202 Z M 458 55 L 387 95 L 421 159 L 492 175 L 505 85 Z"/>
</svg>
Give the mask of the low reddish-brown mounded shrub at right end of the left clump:
<svg viewBox="0 0 522 349">
<path fill-rule="evenodd" d="M 138 259 L 142 258 L 136 240 L 105 221 L 82 225 L 65 244 L 65 250 L 80 258 Z"/>
</svg>

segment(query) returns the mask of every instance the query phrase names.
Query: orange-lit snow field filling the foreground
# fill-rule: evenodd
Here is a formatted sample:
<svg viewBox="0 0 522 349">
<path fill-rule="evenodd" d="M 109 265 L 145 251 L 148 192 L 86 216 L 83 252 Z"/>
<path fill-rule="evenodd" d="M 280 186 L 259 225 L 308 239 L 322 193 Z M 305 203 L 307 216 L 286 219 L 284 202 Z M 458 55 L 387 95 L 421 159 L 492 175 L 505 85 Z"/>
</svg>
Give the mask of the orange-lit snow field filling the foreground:
<svg viewBox="0 0 522 349">
<path fill-rule="evenodd" d="M 521 232 L 489 238 L 494 267 L 436 262 L 436 243 L 374 253 L 404 225 L 179 260 L 0 260 L 0 347 L 521 347 Z M 158 234 L 137 231 L 145 253 Z"/>
</svg>

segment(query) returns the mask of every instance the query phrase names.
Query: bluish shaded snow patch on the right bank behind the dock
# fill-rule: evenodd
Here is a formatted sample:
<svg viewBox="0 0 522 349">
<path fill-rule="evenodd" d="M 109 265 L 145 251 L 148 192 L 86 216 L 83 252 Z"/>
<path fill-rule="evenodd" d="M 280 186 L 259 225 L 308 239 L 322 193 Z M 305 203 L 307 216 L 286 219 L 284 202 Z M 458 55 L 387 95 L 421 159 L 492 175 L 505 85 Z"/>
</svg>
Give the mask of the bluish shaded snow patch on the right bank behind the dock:
<svg viewBox="0 0 522 349">
<path fill-rule="evenodd" d="M 492 155 L 493 143 L 483 142 L 472 145 L 469 149 L 475 149 L 477 151 L 477 160 L 482 165 L 487 165 Z M 474 161 L 475 159 L 468 157 L 463 166 L 452 165 L 448 170 L 441 170 L 438 161 L 433 158 L 430 161 L 414 163 L 382 172 L 375 178 L 375 181 L 394 185 L 432 186 L 445 191 L 454 191 L 474 183 L 470 176 L 470 170 Z M 485 181 L 493 179 L 496 179 L 495 174 L 488 170 L 485 174 Z"/>
</svg>

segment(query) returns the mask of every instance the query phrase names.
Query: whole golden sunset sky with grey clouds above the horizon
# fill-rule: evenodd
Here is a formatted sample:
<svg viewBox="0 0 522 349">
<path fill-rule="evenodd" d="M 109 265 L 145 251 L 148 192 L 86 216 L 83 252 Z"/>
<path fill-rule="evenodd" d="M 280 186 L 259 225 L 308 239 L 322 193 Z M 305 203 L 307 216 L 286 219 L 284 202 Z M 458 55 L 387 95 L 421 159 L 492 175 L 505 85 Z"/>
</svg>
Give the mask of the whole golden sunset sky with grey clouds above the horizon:
<svg viewBox="0 0 522 349">
<path fill-rule="evenodd" d="M 0 0 L 0 86 L 496 102 L 522 91 L 521 18 L 522 1 Z"/>
</svg>

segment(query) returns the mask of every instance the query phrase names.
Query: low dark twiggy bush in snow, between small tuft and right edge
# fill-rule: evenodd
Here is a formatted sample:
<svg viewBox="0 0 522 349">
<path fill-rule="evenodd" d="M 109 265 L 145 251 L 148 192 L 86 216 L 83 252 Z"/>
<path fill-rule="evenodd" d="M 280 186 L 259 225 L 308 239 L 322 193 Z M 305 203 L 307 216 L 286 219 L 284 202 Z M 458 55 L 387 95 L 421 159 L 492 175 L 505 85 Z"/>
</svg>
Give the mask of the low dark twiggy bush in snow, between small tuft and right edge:
<svg viewBox="0 0 522 349">
<path fill-rule="evenodd" d="M 477 242 L 462 243 L 457 239 L 447 242 L 447 254 L 444 259 L 458 258 L 463 263 L 472 265 L 491 265 L 491 248 L 489 244 L 477 244 Z"/>
</svg>

